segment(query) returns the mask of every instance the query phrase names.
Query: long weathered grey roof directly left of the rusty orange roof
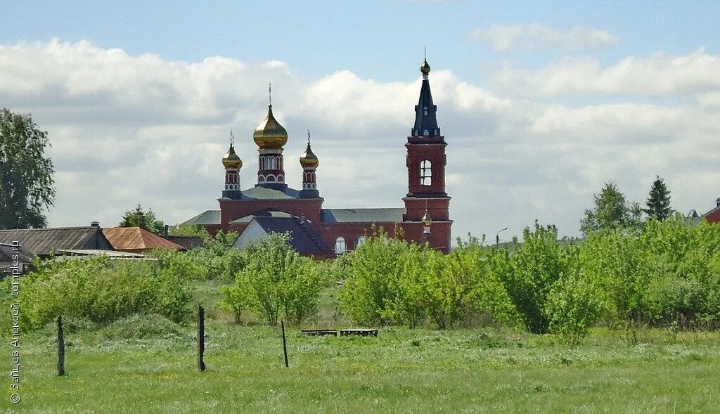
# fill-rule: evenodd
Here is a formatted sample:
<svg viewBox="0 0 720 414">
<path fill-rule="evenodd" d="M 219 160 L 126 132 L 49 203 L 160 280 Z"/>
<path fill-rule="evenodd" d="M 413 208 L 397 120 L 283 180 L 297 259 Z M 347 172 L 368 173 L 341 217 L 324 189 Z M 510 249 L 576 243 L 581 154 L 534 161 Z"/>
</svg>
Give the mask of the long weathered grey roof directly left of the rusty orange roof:
<svg viewBox="0 0 720 414">
<path fill-rule="evenodd" d="M 13 241 L 39 256 L 48 256 L 58 249 L 112 250 L 102 229 L 95 226 L 0 230 L 0 243 Z"/>
</svg>

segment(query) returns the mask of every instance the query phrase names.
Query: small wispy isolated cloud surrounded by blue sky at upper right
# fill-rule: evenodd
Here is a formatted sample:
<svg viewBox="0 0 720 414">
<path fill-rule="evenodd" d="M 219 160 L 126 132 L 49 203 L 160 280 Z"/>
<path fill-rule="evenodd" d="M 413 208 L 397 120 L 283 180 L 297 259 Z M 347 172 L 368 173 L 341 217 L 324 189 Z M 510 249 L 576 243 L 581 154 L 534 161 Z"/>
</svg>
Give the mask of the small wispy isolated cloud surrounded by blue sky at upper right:
<svg viewBox="0 0 720 414">
<path fill-rule="evenodd" d="M 486 42 L 498 52 L 546 48 L 583 50 L 616 45 L 620 41 L 611 33 L 595 27 L 559 29 L 540 23 L 493 24 L 489 28 L 474 30 L 472 37 Z"/>
</svg>

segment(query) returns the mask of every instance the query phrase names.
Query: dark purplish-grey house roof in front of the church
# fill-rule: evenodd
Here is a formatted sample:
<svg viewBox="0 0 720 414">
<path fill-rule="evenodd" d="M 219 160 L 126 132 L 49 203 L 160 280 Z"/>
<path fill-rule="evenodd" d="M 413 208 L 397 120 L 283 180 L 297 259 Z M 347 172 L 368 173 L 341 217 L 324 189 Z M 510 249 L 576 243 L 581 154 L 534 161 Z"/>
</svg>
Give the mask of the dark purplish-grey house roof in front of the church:
<svg viewBox="0 0 720 414">
<path fill-rule="evenodd" d="M 332 253 L 311 222 L 297 217 L 255 217 L 266 233 L 290 233 L 290 246 L 303 254 Z"/>
</svg>

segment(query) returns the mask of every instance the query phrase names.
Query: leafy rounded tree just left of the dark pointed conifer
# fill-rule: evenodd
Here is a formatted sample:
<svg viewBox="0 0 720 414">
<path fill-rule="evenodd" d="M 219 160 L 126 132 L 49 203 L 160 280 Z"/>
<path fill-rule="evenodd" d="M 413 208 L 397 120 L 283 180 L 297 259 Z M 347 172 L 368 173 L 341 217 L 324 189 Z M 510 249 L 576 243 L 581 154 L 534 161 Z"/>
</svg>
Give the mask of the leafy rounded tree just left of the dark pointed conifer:
<svg viewBox="0 0 720 414">
<path fill-rule="evenodd" d="M 580 220 L 580 231 L 584 235 L 639 226 L 642 213 L 639 204 L 628 203 L 615 183 L 606 183 L 602 192 L 594 197 L 595 207 L 593 210 L 585 210 L 585 218 Z"/>
</svg>

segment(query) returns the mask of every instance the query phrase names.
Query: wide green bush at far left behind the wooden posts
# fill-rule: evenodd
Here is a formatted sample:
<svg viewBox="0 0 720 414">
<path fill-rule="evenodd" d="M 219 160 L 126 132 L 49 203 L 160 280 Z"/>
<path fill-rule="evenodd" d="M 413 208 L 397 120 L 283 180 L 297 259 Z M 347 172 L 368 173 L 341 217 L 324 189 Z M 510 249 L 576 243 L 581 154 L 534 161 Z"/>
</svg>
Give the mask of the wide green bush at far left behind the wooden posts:
<svg viewBox="0 0 720 414">
<path fill-rule="evenodd" d="M 109 323 L 135 313 L 180 322 L 188 315 L 194 285 L 179 269 L 105 256 L 45 261 L 22 278 L 24 326 L 40 328 L 60 315 Z"/>
</svg>

